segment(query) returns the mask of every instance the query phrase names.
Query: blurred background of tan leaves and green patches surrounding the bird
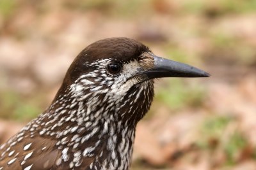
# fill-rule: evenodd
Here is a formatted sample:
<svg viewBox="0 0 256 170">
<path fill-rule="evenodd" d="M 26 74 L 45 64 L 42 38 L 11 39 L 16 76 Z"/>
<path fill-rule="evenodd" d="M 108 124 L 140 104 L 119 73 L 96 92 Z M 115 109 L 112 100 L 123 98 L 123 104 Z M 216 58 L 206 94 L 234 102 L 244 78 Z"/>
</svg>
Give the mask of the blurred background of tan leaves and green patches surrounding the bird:
<svg viewBox="0 0 256 170">
<path fill-rule="evenodd" d="M 157 81 L 132 169 L 256 169 L 256 0 L 1 0 L 0 143 L 85 46 L 118 36 L 212 74 Z"/>
</svg>

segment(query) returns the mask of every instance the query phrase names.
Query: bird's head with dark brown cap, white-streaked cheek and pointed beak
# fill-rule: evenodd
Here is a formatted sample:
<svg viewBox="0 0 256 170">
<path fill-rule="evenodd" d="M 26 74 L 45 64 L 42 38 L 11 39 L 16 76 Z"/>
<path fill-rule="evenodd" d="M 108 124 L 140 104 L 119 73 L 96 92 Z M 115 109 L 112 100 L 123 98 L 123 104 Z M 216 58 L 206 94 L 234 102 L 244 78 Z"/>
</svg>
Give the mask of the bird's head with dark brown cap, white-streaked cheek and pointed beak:
<svg viewBox="0 0 256 170">
<path fill-rule="evenodd" d="M 155 78 L 206 76 L 196 67 L 157 57 L 134 39 L 108 38 L 79 53 L 57 96 L 68 92 L 70 100 L 100 114 L 94 118 L 136 125 L 150 108 Z"/>
</svg>

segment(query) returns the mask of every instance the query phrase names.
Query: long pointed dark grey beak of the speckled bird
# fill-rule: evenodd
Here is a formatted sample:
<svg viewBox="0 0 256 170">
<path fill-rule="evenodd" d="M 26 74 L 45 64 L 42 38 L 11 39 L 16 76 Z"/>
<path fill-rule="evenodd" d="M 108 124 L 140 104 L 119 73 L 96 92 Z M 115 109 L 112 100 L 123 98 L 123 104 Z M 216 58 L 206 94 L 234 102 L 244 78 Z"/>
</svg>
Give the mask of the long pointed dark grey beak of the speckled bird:
<svg viewBox="0 0 256 170">
<path fill-rule="evenodd" d="M 181 62 L 163 59 L 154 55 L 154 67 L 145 73 L 148 78 L 162 77 L 209 77 L 210 74 Z"/>
</svg>

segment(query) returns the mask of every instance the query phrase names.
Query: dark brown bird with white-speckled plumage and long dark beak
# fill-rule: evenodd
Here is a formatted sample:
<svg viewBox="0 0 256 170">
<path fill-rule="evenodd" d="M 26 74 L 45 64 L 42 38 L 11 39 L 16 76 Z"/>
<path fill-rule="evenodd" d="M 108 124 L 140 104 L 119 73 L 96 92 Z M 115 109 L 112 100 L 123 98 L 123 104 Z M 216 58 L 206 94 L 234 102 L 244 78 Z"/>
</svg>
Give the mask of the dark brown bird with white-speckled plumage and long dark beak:
<svg viewBox="0 0 256 170">
<path fill-rule="evenodd" d="M 130 38 L 106 38 L 74 59 L 50 106 L 0 145 L 0 170 L 129 169 L 154 81 L 208 77 Z"/>
</svg>

